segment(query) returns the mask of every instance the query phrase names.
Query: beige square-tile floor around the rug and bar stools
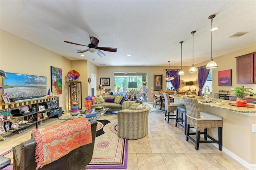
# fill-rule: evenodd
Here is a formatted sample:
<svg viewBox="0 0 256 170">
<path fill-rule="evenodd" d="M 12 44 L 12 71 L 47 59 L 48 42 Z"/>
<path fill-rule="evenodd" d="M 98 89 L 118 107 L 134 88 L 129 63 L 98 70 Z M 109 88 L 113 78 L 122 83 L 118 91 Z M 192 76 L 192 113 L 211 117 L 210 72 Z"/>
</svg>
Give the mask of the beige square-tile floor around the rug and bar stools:
<svg viewBox="0 0 256 170">
<path fill-rule="evenodd" d="M 46 127 L 60 122 L 58 119 L 50 119 L 39 126 Z M 0 141 L 0 153 L 28 140 L 32 128 Z M 173 120 L 169 124 L 164 121 L 164 113 L 150 113 L 148 135 L 138 140 L 129 140 L 127 169 L 246 170 L 212 144 L 200 144 L 199 150 L 195 150 L 194 143 L 185 140 L 183 128 L 175 127 Z"/>
</svg>

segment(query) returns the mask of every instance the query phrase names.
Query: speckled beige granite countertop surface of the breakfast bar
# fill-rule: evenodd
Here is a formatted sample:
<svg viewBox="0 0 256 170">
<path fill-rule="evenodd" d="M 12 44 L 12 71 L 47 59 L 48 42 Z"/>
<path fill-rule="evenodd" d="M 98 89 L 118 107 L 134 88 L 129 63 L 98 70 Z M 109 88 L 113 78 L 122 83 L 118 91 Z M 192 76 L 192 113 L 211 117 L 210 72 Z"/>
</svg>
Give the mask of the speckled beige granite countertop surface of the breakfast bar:
<svg viewBox="0 0 256 170">
<path fill-rule="evenodd" d="M 183 100 L 183 96 L 172 96 L 173 98 Z M 198 100 L 198 103 L 200 105 L 205 105 L 209 107 L 215 107 L 219 109 L 225 109 L 228 111 L 233 111 L 236 113 L 241 113 L 243 115 L 249 115 L 249 116 L 256 116 L 256 104 L 253 103 L 247 103 L 248 105 L 254 105 L 255 107 L 238 107 L 238 106 L 231 106 L 228 103 L 234 103 L 236 104 L 236 101 L 230 101 L 230 100 L 222 100 L 222 99 L 212 99 L 216 103 L 202 103 L 200 101 L 203 100 L 202 97 L 196 96 L 196 99 Z"/>
</svg>

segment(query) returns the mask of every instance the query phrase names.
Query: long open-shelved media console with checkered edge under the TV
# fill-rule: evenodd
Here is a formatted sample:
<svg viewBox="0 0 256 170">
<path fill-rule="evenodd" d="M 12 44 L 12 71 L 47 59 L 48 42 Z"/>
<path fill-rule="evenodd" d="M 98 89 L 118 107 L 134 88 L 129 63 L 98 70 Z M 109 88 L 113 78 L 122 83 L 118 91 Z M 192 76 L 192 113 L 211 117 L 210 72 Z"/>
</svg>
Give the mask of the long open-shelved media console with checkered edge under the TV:
<svg viewBox="0 0 256 170">
<path fill-rule="evenodd" d="M 29 108 L 29 112 L 19 113 L 19 109 L 26 106 Z M 44 109 L 39 110 L 39 108 Z M 12 114 L 4 116 L 4 120 L 0 120 L 0 137 L 23 132 L 32 125 L 36 125 L 36 128 L 38 128 L 39 121 L 45 121 L 51 117 L 59 119 L 62 111 L 59 107 L 59 97 L 50 97 L 22 102 L 16 101 L 8 104 L 0 103 L 0 117 L 6 112 Z M 24 122 L 19 125 L 20 121 Z"/>
</svg>

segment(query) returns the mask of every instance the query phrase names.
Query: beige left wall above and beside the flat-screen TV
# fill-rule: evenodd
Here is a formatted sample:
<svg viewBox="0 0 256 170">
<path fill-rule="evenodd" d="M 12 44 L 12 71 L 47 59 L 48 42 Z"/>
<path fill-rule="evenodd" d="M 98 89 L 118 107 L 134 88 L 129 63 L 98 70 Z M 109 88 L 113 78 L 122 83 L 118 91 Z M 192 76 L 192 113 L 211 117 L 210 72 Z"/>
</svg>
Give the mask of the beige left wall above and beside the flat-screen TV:
<svg viewBox="0 0 256 170">
<path fill-rule="evenodd" d="M 51 87 L 51 66 L 62 68 L 60 106 L 66 109 L 64 75 L 71 69 L 70 60 L 0 29 L 0 70 L 11 73 L 46 76 L 47 90 Z M 2 86 L 2 79 L 0 79 Z M 2 91 L 0 92 L 2 94 Z"/>
</svg>

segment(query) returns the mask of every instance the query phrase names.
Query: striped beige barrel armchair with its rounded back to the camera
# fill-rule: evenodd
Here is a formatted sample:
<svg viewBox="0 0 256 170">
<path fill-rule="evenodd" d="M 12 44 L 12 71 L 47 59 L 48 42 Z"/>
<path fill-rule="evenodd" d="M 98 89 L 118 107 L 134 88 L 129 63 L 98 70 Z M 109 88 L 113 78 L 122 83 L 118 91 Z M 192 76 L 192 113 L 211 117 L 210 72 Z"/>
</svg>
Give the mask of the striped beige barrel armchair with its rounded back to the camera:
<svg viewBox="0 0 256 170">
<path fill-rule="evenodd" d="M 130 107 L 132 107 L 133 103 L 135 102 L 124 101 L 122 111 L 118 111 L 117 113 L 118 137 L 120 138 L 134 140 L 143 138 L 148 134 L 148 114 L 150 107 L 146 103 L 138 103 L 137 105 L 142 107 L 141 110 L 131 110 Z"/>
</svg>

